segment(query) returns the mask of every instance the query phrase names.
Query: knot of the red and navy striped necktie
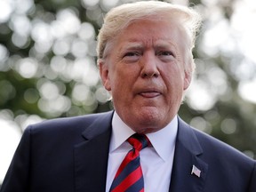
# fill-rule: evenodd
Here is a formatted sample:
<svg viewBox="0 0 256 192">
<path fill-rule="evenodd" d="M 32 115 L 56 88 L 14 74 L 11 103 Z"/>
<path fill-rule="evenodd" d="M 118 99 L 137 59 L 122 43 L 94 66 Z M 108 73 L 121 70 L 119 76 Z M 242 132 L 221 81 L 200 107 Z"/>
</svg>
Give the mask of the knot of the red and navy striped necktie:
<svg viewBox="0 0 256 192">
<path fill-rule="evenodd" d="M 148 137 L 144 134 L 134 133 L 129 139 L 128 142 L 132 145 L 133 148 L 141 150 L 150 145 Z"/>
</svg>

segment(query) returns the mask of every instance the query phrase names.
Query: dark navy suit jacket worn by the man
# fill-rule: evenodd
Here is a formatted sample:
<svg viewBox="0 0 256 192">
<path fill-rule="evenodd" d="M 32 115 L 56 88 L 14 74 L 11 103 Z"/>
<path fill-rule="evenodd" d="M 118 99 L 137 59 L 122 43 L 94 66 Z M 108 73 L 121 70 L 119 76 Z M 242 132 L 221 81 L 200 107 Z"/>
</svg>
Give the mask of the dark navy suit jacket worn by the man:
<svg viewBox="0 0 256 192">
<path fill-rule="evenodd" d="M 28 126 L 1 192 L 104 192 L 112 116 L 108 112 Z M 191 174 L 193 165 L 200 177 Z M 256 163 L 179 118 L 169 191 L 256 192 Z"/>
</svg>

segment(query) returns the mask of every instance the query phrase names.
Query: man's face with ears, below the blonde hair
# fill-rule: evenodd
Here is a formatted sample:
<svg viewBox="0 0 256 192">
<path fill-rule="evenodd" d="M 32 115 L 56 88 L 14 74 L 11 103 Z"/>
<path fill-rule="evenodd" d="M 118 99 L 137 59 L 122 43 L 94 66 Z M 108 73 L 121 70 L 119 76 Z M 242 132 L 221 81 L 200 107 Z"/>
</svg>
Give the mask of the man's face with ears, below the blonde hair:
<svg viewBox="0 0 256 192">
<path fill-rule="evenodd" d="M 178 24 L 137 20 L 116 36 L 100 61 L 100 76 L 116 113 L 135 132 L 156 132 L 180 108 L 190 75 L 186 36 Z"/>
</svg>

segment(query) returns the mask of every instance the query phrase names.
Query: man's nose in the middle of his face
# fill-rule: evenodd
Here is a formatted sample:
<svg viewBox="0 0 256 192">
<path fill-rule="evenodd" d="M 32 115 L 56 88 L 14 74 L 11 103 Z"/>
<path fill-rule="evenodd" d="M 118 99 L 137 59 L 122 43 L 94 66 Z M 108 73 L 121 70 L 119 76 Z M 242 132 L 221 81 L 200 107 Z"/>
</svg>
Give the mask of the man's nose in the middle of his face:
<svg viewBox="0 0 256 192">
<path fill-rule="evenodd" d="M 141 60 L 141 72 L 140 76 L 142 78 L 152 78 L 152 77 L 158 77 L 160 75 L 160 72 L 157 68 L 157 61 L 156 57 L 144 55 L 143 59 Z"/>
</svg>

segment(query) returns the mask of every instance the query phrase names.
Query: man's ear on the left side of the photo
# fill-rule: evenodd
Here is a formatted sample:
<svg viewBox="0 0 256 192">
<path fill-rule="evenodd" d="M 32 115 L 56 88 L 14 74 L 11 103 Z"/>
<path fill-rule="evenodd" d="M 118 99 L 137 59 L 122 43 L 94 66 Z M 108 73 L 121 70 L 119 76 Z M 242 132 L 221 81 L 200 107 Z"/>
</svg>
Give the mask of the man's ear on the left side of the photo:
<svg viewBox="0 0 256 192">
<path fill-rule="evenodd" d="M 108 63 L 105 62 L 105 60 L 98 60 L 98 65 L 100 68 L 100 77 L 102 84 L 104 85 L 105 89 L 108 90 L 108 92 L 111 91 L 111 85 L 110 85 L 110 79 L 109 79 L 109 73 L 108 73 Z"/>
</svg>

